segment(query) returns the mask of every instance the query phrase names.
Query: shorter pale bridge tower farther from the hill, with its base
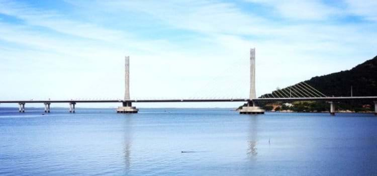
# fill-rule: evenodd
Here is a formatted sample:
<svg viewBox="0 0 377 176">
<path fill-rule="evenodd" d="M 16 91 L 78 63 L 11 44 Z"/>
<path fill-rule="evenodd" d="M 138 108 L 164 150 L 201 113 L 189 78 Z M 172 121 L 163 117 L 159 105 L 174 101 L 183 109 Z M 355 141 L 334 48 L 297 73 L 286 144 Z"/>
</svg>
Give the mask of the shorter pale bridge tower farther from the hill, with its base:
<svg viewBox="0 0 377 176">
<path fill-rule="evenodd" d="M 123 106 L 118 107 L 117 113 L 137 113 L 139 110 L 132 106 L 130 100 L 130 56 L 125 58 L 125 92 Z"/>
</svg>

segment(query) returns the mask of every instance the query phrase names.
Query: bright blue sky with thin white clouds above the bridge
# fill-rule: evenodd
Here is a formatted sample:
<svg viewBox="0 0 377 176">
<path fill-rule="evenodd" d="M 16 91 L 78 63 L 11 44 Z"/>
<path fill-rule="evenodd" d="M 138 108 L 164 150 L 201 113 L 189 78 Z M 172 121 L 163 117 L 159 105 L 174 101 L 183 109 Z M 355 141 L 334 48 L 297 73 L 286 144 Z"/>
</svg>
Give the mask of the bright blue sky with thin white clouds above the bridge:
<svg viewBox="0 0 377 176">
<path fill-rule="evenodd" d="M 125 56 L 132 99 L 247 98 L 250 48 L 260 96 L 377 55 L 375 9 L 357 0 L 0 0 L 0 100 L 123 99 Z"/>
</svg>

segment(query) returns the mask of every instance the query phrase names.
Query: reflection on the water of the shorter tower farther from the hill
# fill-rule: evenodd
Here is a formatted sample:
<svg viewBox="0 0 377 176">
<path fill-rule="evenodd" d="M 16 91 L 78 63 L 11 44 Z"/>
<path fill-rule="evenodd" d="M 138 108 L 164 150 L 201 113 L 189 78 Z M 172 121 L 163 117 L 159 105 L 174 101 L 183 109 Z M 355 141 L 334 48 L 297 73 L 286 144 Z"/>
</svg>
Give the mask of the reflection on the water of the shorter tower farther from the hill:
<svg viewBox="0 0 377 176">
<path fill-rule="evenodd" d="M 124 164 L 128 171 L 131 167 L 131 145 L 132 145 L 132 117 L 125 117 L 124 121 Z"/>
</svg>

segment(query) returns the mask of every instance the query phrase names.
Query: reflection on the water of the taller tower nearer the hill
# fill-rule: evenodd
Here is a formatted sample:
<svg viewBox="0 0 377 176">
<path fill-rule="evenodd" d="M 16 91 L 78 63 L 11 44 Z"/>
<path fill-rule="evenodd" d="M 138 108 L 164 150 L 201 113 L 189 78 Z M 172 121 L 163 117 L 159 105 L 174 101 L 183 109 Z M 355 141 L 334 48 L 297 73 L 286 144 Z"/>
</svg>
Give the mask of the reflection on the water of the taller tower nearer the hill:
<svg viewBox="0 0 377 176">
<path fill-rule="evenodd" d="M 255 157 L 258 154 L 257 148 L 257 136 L 258 136 L 258 118 L 256 116 L 250 116 L 249 118 L 249 132 L 248 132 L 248 148 L 247 155 L 249 157 Z"/>
</svg>

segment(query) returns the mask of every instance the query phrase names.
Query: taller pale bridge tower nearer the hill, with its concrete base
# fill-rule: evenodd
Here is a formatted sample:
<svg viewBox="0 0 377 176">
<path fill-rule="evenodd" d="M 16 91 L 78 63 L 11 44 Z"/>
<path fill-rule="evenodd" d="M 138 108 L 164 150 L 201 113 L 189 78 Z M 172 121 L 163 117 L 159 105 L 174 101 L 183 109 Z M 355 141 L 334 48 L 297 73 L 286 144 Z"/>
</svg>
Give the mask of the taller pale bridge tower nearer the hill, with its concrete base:
<svg viewBox="0 0 377 176">
<path fill-rule="evenodd" d="M 239 110 L 240 114 L 264 114 L 264 110 L 255 106 L 255 48 L 250 49 L 250 95 L 246 106 Z"/>
</svg>

